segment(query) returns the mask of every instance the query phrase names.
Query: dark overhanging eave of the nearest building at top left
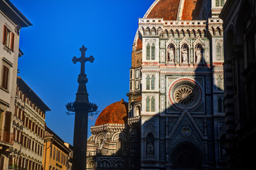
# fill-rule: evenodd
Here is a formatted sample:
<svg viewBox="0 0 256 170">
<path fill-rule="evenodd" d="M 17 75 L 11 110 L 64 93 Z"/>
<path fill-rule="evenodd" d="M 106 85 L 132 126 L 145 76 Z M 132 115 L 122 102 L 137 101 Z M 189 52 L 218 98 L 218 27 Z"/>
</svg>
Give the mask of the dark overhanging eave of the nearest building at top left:
<svg viewBox="0 0 256 170">
<path fill-rule="evenodd" d="M 18 8 L 16 8 L 16 6 L 14 6 L 14 4 L 11 3 L 11 1 L 0 0 L 0 3 L 5 4 L 6 7 L 9 7 L 9 9 L 11 9 L 11 12 L 14 13 L 16 15 L 16 17 L 18 17 L 18 19 L 21 22 L 21 27 L 33 26 L 32 23 L 30 21 L 28 21 L 28 18 L 26 18 L 26 16 L 24 16 L 23 13 L 21 13 L 21 11 L 19 11 Z"/>
</svg>

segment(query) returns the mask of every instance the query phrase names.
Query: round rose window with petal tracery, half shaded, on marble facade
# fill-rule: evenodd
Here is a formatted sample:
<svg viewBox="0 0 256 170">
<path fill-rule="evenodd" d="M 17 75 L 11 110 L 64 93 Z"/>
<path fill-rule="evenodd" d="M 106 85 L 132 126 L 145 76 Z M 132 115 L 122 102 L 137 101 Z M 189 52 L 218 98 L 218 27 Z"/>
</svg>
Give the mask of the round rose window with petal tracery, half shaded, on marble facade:
<svg viewBox="0 0 256 170">
<path fill-rule="evenodd" d="M 193 89 L 190 86 L 180 86 L 174 92 L 174 100 L 180 106 L 189 106 L 194 101 Z"/>
</svg>

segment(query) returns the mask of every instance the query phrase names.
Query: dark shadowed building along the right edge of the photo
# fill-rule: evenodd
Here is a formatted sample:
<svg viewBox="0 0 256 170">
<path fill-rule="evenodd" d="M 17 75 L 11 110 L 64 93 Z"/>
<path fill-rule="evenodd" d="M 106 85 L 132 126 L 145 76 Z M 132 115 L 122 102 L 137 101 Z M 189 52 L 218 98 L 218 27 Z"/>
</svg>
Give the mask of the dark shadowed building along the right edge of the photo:
<svg viewBox="0 0 256 170">
<path fill-rule="evenodd" d="M 224 29 L 226 140 L 229 169 L 255 166 L 256 2 L 228 0 L 220 14 Z"/>
</svg>

